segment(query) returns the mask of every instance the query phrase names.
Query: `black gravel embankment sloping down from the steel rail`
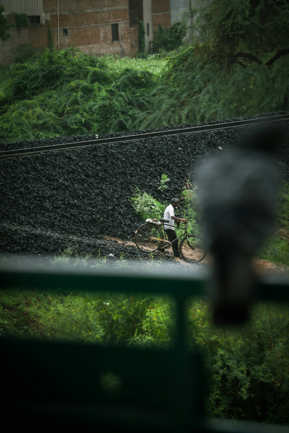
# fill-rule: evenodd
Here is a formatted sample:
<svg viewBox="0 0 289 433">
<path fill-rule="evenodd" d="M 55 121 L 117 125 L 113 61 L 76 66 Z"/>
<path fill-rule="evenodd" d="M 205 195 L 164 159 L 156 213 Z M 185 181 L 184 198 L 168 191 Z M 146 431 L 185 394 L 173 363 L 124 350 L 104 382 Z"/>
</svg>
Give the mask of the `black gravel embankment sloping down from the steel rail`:
<svg viewBox="0 0 289 433">
<path fill-rule="evenodd" d="M 277 114 L 288 113 L 264 113 L 206 124 Z M 289 126 L 289 122 L 284 124 Z M 196 125 L 167 129 L 190 126 Z M 161 202 L 180 197 L 186 180 L 190 178 L 194 183 L 200 163 L 209 155 L 222 152 L 219 146 L 223 150 L 234 146 L 246 130 L 247 127 L 238 127 L 195 132 L 2 159 L 0 253 L 53 255 L 74 246 L 83 254 L 141 257 L 136 247 L 124 249 L 102 236 L 131 240 L 135 229 L 143 223 L 129 201 L 134 188 L 152 194 Z M 135 133 L 106 134 L 98 138 Z M 1 143 L 0 150 L 93 139 L 95 135 Z M 288 180 L 288 151 L 280 152 L 279 167 L 283 178 Z M 157 190 L 162 174 L 170 178 L 163 193 Z M 161 256 L 165 260 L 166 255 Z"/>
</svg>

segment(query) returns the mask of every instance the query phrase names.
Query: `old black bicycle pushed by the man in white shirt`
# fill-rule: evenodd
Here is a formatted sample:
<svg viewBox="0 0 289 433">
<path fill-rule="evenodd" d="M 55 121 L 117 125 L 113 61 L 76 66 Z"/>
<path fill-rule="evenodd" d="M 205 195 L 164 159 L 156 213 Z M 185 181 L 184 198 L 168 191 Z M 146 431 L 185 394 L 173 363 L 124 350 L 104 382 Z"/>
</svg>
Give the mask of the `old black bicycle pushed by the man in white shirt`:
<svg viewBox="0 0 289 433">
<path fill-rule="evenodd" d="M 134 236 L 137 248 L 144 252 L 154 252 L 160 248 L 171 246 L 172 242 L 167 239 L 164 223 L 169 223 L 169 220 L 160 218 L 159 222 L 147 221 L 138 227 Z M 207 254 L 203 239 L 200 236 L 188 234 L 187 224 L 184 223 L 184 225 L 185 228 L 179 227 L 179 229 L 185 230 L 185 233 L 177 237 L 177 239 L 182 238 L 179 243 L 179 252 L 187 262 L 201 262 Z M 169 227 L 169 224 L 166 224 L 166 227 Z"/>
</svg>

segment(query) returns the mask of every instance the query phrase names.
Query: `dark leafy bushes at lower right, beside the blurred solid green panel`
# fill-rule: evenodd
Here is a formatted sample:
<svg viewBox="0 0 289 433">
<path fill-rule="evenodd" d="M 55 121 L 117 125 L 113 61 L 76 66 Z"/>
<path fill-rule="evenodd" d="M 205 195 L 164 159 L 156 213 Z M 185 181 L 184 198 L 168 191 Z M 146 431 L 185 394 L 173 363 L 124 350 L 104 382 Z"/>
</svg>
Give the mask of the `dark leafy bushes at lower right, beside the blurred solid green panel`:
<svg viewBox="0 0 289 433">
<path fill-rule="evenodd" d="M 288 306 L 259 303 L 231 329 L 211 325 L 205 301 L 192 301 L 188 315 L 191 342 L 206 355 L 208 414 L 288 423 Z"/>
</svg>

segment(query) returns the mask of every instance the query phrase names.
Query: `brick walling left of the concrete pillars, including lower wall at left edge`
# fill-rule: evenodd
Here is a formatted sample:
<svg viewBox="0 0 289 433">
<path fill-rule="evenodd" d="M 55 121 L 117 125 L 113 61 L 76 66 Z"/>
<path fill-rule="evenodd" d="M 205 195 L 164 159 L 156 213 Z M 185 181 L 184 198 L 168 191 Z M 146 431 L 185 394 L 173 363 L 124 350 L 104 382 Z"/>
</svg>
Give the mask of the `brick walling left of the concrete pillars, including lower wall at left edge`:
<svg viewBox="0 0 289 433">
<path fill-rule="evenodd" d="M 139 1 L 139 0 L 136 0 Z M 13 61 L 16 47 L 29 44 L 33 47 L 48 45 L 48 24 L 52 31 L 54 47 L 79 48 L 91 55 L 131 55 L 137 51 L 136 30 L 130 29 L 129 0 L 43 0 L 44 24 L 33 24 L 11 30 L 11 38 L 1 43 L 1 63 Z M 106 6 L 106 7 L 105 7 Z M 59 13 L 59 23 L 58 23 Z M 8 16 L 13 21 L 14 16 Z M 118 23 L 119 40 L 112 42 L 111 24 Z M 59 24 L 59 47 L 58 47 Z M 132 26 L 137 27 L 137 26 Z M 67 35 L 64 34 L 67 32 Z M 131 46 L 130 38 L 134 38 Z"/>
</svg>

